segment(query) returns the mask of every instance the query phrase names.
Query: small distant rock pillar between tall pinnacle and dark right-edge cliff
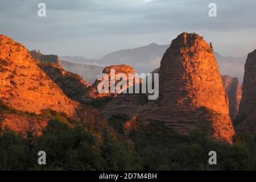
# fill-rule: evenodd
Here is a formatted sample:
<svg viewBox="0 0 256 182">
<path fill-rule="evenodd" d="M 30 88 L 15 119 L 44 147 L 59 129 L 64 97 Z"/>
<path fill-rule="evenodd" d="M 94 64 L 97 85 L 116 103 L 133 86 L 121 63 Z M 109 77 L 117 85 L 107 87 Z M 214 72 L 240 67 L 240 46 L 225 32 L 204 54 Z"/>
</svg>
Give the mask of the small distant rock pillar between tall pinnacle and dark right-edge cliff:
<svg viewBox="0 0 256 182">
<path fill-rule="evenodd" d="M 229 98 L 229 115 L 231 119 L 235 119 L 242 97 L 242 88 L 237 77 L 232 78 L 229 75 L 222 75 L 221 77 L 225 92 Z"/>
</svg>

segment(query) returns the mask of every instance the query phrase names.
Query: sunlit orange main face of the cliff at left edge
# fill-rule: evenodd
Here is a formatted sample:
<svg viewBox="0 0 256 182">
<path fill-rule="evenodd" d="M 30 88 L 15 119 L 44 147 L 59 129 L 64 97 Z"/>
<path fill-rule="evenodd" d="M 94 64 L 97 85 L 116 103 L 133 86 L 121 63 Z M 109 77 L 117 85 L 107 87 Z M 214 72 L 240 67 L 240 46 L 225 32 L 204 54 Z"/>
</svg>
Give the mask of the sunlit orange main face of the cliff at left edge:
<svg viewBox="0 0 256 182">
<path fill-rule="evenodd" d="M 44 73 L 27 49 L 0 36 L 0 98 L 17 110 L 39 114 L 51 108 L 73 116 L 78 103 L 70 100 Z"/>
</svg>

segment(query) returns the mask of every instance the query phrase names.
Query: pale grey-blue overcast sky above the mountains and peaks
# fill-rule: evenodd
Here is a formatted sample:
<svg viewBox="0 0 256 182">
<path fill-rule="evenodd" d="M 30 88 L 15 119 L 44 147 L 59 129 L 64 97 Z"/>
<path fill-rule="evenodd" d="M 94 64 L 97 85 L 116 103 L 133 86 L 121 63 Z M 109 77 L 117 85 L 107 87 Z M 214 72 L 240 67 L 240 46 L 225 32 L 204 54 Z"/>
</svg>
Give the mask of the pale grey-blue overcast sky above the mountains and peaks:
<svg viewBox="0 0 256 182">
<path fill-rule="evenodd" d="M 46 17 L 38 3 L 46 3 Z M 208 5 L 217 5 L 209 17 Z M 0 0 L 0 34 L 45 54 L 99 59 L 196 32 L 224 56 L 256 49 L 255 0 Z"/>
</svg>

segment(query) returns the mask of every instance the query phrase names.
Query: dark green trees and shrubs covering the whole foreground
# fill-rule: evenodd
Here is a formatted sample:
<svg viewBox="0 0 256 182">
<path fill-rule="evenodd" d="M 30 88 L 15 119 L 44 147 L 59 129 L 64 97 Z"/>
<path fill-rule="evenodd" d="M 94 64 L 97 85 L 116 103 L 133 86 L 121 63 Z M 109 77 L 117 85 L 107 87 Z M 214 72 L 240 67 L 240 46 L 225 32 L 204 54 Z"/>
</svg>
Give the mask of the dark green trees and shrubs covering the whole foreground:
<svg viewBox="0 0 256 182">
<path fill-rule="evenodd" d="M 210 140 L 208 127 L 186 137 L 154 123 L 138 125 L 127 134 L 123 125 L 129 118 L 113 115 L 109 125 L 115 134 L 108 130 L 98 133 L 79 125 L 71 127 L 63 114 L 48 110 L 43 114 L 49 123 L 40 137 L 28 132 L 24 138 L 11 130 L 1 131 L 1 170 L 256 169 L 256 141 L 248 134 L 237 135 L 230 146 Z M 38 151 L 42 150 L 46 151 L 47 164 L 40 166 Z M 212 150 L 217 152 L 217 165 L 207 167 Z"/>
</svg>

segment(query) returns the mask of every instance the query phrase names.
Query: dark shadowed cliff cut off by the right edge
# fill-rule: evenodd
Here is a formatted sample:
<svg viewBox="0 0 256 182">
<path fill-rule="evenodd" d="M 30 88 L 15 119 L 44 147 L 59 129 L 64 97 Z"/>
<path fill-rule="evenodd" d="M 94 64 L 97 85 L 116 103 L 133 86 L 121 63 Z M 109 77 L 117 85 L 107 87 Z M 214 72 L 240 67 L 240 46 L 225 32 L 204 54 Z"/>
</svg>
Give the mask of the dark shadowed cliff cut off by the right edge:
<svg viewBox="0 0 256 182">
<path fill-rule="evenodd" d="M 250 131 L 256 134 L 256 49 L 249 53 L 246 59 L 243 92 L 238 115 L 243 121 L 238 124 L 237 130 Z"/>
</svg>

